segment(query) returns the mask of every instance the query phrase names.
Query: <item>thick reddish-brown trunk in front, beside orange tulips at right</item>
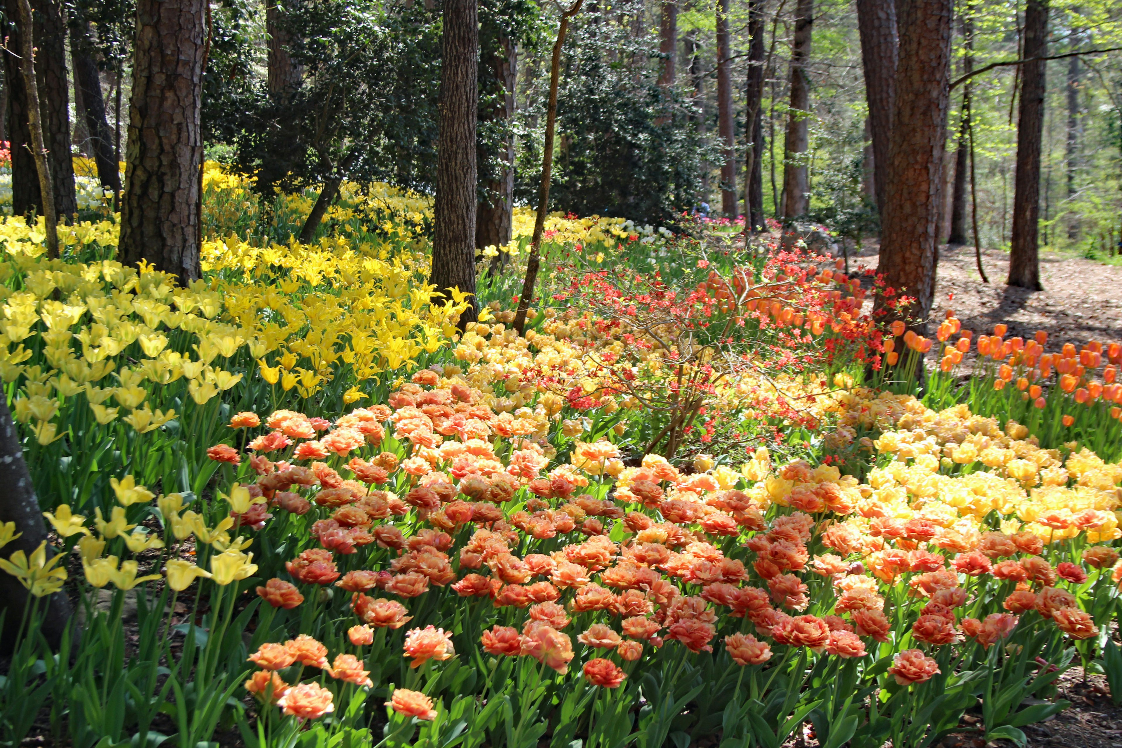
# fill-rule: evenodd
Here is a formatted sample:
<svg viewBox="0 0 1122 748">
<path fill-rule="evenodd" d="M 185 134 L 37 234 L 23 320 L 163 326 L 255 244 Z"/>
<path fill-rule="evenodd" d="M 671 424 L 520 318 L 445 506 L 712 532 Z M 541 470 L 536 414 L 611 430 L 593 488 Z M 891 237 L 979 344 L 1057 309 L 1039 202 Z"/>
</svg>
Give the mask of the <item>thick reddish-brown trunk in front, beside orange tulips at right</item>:
<svg viewBox="0 0 1122 748">
<path fill-rule="evenodd" d="M 953 0 L 912 0 L 900 17 L 900 56 L 895 81 L 892 149 L 885 185 L 881 261 L 885 289 L 914 302 L 890 308 L 888 318 L 907 318 L 917 332 L 927 329 L 939 261 L 937 221 L 942 190 L 942 156 L 950 99 L 950 24 Z"/>
</svg>

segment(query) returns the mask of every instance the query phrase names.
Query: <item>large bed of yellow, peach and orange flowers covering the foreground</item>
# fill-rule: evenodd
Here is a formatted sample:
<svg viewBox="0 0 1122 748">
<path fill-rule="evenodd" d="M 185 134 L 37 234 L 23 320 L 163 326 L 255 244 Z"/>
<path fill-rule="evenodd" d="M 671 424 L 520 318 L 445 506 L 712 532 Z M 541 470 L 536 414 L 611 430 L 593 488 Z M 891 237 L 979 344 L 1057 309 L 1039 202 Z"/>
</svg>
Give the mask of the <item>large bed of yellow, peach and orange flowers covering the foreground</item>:
<svg viewBox="0 0 1122 748">
<path fill-rule="evenodd" d="M 0 225 L 52 532 L 0 554 L 4 741 L 1024 744 L 1070 667 L 1122 696 L 1116 345 L 898 341 L 824 258 L 560 216 L 525 336 L 503 283 L 458 333 L 423 201 L 274 243 L 210 178 L 191 288 Z"/>
</svg>

